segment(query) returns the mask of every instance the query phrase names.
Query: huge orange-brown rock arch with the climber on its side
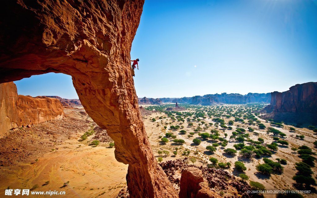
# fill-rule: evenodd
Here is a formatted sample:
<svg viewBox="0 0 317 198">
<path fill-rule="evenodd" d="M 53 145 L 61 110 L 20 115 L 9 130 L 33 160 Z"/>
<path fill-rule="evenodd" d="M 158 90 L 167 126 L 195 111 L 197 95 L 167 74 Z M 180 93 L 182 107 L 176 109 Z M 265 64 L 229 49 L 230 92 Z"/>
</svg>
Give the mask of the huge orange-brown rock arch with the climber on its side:
<svg viewBox="0 0 317 198">
<path fill-rule="evenodd" d="M 114 140 L 115 158 L 129 164 L 130 196 L 177 197 L 152 153 L 131 75 L 144 0 L 1 4 L 0 83 L 48 72 L 72 76 L 86 112 Z"/>
</svg>

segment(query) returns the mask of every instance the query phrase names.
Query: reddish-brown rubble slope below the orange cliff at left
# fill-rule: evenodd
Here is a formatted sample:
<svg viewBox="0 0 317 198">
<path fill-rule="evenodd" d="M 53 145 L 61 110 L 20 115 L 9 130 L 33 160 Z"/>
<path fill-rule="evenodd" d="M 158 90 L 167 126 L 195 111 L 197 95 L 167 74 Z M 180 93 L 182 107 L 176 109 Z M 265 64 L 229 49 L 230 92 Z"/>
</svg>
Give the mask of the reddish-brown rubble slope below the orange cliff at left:
<svg viewBox="0 0 317 198">
<path fill-rule="evenodd" d="M 78 111 L 70 111 L 61 120 L 16 128 L 6 138 L 0 139 L 0 166 L 24 161 L 29 163 L 30 158 L 35 159 L 42 153 L 56 149 L 55 145 L 68 139 L 78 139 L 92 124 L 95 123 Z"/>
</svg>

